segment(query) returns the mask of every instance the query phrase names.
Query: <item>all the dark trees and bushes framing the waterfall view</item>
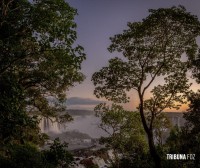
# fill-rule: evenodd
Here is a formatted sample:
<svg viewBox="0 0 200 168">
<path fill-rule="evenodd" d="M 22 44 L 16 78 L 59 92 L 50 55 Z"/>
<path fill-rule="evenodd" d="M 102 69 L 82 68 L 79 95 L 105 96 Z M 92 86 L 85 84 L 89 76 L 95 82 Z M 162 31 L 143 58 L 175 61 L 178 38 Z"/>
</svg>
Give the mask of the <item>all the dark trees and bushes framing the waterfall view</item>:
<svg viewBox="0 0 200 168">
<path fill-rule="evenodd" d="M 92 76 L 94 94 L 113 101 L 95 108 L 99 127 L 108 133 L 100 142 L 114 150 L 115 168 L 200 167 L 200 91 L 189 90 L 186 76 L 191 70 L 200 83 L 200 22 L 182 6 L 149 12 L 111 38 L 108 50 L 124 58 L 110 59 Z M 64 0 L 0 1 L 0 167 L 69 167 L 73 161 L 59 139 L 40 148 L 48 137 L 38 124 L 41 117 L 72 120 L 66 91 L 84 80 L 86 57 L 75 43 L 76 14 Z M 164 84 L 156 86 L 157 79 Z M 139 99 L 137 112 L 117 104 L 128 102 L 131 90 Z M 186 124 L 173 127 L 164 143 L 163 130 L 171 124 L 162 112 L 178 109 L 186 99 Z M 167 153 L 194 153 L 196 159 L 169 161 Z M 91 160 L 84 164 L 98 167 Z"/>
</svg>

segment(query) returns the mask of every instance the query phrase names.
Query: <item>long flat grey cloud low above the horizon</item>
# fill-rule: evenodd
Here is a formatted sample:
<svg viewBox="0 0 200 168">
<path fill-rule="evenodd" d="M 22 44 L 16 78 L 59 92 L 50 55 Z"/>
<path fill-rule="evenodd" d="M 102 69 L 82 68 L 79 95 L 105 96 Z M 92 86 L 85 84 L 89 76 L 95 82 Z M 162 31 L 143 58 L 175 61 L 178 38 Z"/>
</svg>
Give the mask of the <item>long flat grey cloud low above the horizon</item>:
<svg viewBox="0 0 200 168">
<path fill-rule="evenodd" d="M 97 105 L 104 102 L 105 101 L 81 97 L 71 97 L 67 99 L 67 105 Z"/>
</svg>

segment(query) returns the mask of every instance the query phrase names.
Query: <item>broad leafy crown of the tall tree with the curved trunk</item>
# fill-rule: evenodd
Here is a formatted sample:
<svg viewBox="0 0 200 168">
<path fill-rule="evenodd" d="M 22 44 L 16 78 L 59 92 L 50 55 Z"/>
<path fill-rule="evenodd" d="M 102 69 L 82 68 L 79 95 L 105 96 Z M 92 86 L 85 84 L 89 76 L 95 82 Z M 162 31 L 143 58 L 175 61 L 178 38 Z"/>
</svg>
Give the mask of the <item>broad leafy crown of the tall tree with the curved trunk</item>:
<svg viewBox="0 0 200 168">
<path fill-rule="evenodd" d="M 94 94 L 115 102 L 127 102 L 127 91 L 135 89 L 143 97 L 159 76 L 173 76 L 178 81 L 181 76 L 178 73 L 183 75 L 182 71 L 187 71 L 187 63 L 181 61 L 181 56 L 189 50 L 197 50 L 199 30 L 197 17 L 183 7 L 150 10 L 142 22 L 128 23 L 127 30 L 110 38 L 112 44 L 108 48 L 110 52 L 121 52 L 125 59 L 113 58 L 108 67 L 94 73 Z"/>
</svg>

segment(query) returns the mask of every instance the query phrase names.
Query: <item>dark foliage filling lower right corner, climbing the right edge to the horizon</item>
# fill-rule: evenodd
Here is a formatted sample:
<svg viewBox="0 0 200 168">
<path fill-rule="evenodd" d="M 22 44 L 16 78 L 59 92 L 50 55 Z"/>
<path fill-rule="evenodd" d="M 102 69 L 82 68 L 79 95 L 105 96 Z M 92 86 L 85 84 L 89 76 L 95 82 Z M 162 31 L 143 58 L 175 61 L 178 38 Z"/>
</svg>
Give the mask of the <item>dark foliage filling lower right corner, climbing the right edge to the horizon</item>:
<svg viewBox="0 0 200 168">
<path fill-rule="evenodd" d="M 166 165 L 173 167 L 200 167 L 200 129 L 199 129 L 199 112 L 200 112 L 200 93 L 191 93 L 188 95 L 189 109 L 184 114 L 186 124 L 179 129 L 175 127 L 171 130 L 168 137 L 165 150 L 166 153 L 186 153 L 195 154 L 195 160 L 186 161 L 165 161 Z"/>
</svg>

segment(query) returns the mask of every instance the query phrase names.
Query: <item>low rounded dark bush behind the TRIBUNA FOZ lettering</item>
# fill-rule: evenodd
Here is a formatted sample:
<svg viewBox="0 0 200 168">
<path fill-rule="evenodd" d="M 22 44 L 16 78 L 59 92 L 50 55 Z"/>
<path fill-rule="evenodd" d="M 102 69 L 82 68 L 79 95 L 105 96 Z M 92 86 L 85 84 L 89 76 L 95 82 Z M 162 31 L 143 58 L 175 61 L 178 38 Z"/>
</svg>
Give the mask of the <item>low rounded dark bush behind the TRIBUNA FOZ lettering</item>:
<svg viewBox="0 0 200 168">
<path fill-rule="evenodd" d="M 163 146 L 162 153 L 164 167 L 199 167 L 199 147 L 193 141 L 194 136 L 189 133 L 187 126 L 178 128 L 175 126 Z M 167 160 L 166 154 L 195 154 L 195 160 Z"/>
</svg>

